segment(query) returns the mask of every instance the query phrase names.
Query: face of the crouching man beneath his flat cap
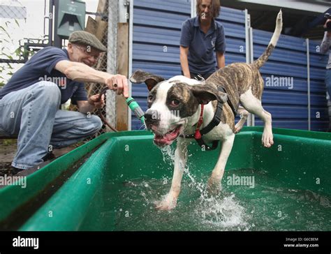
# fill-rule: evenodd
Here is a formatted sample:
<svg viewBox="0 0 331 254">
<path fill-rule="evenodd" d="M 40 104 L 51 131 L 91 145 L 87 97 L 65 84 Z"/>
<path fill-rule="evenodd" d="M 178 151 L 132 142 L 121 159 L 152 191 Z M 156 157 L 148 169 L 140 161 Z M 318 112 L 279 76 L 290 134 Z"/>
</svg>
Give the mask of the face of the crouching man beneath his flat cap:
<svg viewBox="0 0 331 254">
<path fill-rule="evenodd" d="M 68 53 L 71 61 L 91 67 L 96 64 L 101 52 L 91 46 L 68 43 Z"/>
</svg>

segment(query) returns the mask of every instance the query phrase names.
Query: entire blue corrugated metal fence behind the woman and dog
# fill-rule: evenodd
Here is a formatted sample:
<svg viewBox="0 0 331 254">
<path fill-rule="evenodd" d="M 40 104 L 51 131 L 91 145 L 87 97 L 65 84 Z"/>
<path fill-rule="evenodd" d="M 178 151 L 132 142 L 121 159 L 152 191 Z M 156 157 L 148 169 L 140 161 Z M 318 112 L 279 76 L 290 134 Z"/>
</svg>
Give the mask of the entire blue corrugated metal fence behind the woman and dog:
<svg viewBox="0 0 331 254">
<path fill-rule="evenodd" d="M 143 69 L 165 78 L 180 75 L 180 29 L 182 22 L 191 17 L 190 1 L 135 0 L 133 9 L 133 71 Z M 226 65 L 246 62 L 244 10 L 222 7 L 216 20 L 223 24 L 226 33 Z M 263 54 L 271 37 L 271 32 L 253 30 L 254 59 Z M 274 127 L 308 130 L 310 84 L 311 130 L 327 128 L 324 84 L 327 58 L 316 52 L 318 43 L 310 43 L 308 63 L 306 40 L 281 35 L 270 59 L 260 69 L 265 80 L 263 107 L 272 114 Z M 145 84 L 133 84 L 132 94 L 142 110 L 146 110 Z M 259 126 L 263 122 L 256 117 L 255 124 Z M 143 128 L 140 121 L 132 117 L 132 129 L 139 128 Z"/>
</svg>

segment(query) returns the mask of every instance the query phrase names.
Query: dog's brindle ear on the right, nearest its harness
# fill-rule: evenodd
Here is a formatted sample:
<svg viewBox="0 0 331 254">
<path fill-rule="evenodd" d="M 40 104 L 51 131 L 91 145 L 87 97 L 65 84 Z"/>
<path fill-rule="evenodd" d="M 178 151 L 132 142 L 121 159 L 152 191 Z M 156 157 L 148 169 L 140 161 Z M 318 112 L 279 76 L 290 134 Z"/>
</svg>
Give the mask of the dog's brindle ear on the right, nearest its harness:
<svg viewBox="0 0 331 254">
<path fill-rule="evenodd" d="M 208 87 L 206 84 L 196 84 L 191 87 L 193 95 L 198 99 L 200 104 L 208 104 L 211 100 L 218 100 L 220 103 L 226 103 L 228 95 Z"/>
</svg>

